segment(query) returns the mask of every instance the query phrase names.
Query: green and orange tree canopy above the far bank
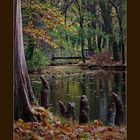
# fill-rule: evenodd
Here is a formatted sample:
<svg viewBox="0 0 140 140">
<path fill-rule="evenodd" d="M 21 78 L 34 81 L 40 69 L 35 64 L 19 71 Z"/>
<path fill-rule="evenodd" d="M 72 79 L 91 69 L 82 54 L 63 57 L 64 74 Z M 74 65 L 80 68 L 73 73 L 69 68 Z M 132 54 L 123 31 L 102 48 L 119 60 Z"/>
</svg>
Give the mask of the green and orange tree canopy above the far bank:
<svg viewBox="0 0 140 140">
<path fill-rule="evenodd" d="M 35 48 L 44 42 L 49 48 L 80 49 L 82 57 L 85 49 L 108 50 L 114 60 L 125 61 L 125 0 L 28 0 L 22 1 L 22 15 L 24 36 Z"/>
</svg>

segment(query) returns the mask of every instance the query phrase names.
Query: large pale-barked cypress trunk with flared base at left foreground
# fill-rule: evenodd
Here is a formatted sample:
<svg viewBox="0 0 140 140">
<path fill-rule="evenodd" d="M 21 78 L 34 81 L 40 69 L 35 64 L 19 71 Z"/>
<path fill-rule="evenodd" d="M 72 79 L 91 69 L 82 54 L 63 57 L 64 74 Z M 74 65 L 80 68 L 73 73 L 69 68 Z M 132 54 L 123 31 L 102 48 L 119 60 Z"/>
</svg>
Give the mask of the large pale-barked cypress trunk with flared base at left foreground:
<svg viewBox="0 0 140 140">
<path fill-rule="evenodd" d="M 31 87 L 23 46 L 20 0 L 14 1 L 14 119 L 37 121 L 32 104 L 35 100 Z"/>
</svg>

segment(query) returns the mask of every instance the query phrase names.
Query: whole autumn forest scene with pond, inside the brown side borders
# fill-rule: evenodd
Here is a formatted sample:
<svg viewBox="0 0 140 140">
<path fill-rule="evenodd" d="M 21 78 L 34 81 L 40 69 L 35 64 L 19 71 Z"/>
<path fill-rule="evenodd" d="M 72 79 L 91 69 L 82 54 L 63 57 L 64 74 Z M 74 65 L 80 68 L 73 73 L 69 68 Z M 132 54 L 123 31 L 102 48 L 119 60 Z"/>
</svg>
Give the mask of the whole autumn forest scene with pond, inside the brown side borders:
<svg viewBox="0 0 140 140">
<path fill-rule="evenodd" d="M 127 1 L 13 9 L 14 140 L 126 140 Z"/>
</svg>

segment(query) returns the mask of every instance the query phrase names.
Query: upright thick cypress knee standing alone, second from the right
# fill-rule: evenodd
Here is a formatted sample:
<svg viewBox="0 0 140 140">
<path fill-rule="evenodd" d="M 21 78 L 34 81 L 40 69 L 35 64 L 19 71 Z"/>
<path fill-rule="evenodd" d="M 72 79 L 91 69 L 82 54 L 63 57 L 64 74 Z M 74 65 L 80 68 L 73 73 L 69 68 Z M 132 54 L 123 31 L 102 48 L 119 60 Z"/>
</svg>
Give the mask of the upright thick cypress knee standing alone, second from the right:
<svg viewBox="0 0 140 140">
<path fill-rule="evenodd" d="M 79 118 L 80 124 L 89 122 L 88 113 L 89 113 L 88 99 L 85 95 L 82 95 L 80 100 L 80 118 Z"/>
</svg>

